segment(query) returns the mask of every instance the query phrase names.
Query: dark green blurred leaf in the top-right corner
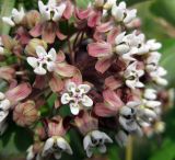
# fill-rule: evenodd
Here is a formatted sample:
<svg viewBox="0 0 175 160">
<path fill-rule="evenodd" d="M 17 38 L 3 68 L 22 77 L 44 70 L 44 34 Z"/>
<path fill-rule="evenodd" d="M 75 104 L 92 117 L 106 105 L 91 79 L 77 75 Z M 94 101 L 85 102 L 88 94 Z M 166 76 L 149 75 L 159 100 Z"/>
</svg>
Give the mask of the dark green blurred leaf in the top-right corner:
<svg viewBox="0 0 175 160">
<path fill-rule="evenodd" d="M 151 7 L 151 11 L 175 25 L 175 0 L 156 0 Z"/>
</svg>

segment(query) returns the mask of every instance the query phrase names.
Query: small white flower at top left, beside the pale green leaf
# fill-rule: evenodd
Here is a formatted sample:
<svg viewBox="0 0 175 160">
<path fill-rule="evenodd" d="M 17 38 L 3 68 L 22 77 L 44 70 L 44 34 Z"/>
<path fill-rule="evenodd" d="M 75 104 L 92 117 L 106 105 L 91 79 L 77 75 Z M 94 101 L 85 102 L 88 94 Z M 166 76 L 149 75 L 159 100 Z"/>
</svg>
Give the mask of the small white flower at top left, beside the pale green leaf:
<svg viewBox="0 0 175 160">
<path fill-rule="evenodd" d="M 14 26 L 15 24 L 20 24 L 24 16 L 25 12 L 23 8 L 20 11 L 13 9 L 12 14 L 10 16 L 3 16 L 2 20 L 4 23 Z"/>
</svg>

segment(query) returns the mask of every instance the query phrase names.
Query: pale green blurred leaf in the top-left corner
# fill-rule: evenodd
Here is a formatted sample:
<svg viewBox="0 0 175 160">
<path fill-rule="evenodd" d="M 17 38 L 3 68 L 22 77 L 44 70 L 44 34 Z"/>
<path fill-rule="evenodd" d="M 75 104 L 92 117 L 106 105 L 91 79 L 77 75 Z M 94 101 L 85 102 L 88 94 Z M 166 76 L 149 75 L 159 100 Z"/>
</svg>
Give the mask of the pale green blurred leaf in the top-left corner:
<svg viewBox="0 0 175 160">
<path fill-rule="evenodd" d="M 15 0 L 1 0 L 1 13 L 0 13 L 0 34 L 8 34 L 10 26 L 2 22 L 3 16 L 9 16 L 15 4 Z"/>
</svg>

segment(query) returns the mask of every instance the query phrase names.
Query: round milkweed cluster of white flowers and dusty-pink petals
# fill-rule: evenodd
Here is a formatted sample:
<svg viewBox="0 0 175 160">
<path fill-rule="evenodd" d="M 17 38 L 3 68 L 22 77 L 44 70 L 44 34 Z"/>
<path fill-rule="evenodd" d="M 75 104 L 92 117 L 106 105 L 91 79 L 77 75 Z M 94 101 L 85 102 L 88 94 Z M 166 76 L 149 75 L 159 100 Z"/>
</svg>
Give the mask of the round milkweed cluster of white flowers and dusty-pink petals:
<svg viewBox="0 0 175 160">
<path fill-rule="evenodd" d="M 31 129 L 27 160 L 72 155 L 71 129 L 88 157 L 155 125 L 163 130 L 162 45 L 147 41 L 136 9 L 116 0 L 86 9 L 73 0 L 39 0 L 38 10 L 13 9 L 2 20 L 12 28 L 0 37 L 0 133 L 10 119 Z"/>
</svg>

